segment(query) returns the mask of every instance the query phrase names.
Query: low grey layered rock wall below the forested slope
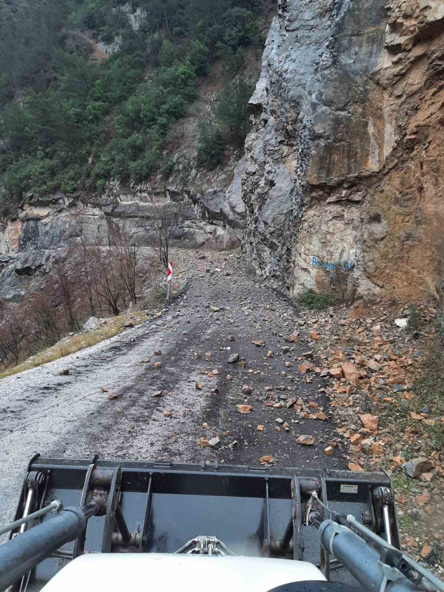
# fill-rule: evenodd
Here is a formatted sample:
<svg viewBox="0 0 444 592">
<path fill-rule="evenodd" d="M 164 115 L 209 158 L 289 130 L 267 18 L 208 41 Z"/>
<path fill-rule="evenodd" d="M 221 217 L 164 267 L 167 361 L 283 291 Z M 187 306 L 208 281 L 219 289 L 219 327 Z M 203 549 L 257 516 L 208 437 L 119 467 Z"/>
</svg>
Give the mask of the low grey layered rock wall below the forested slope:
<svg viewBox="0 0 444 592">
<path fill-rule="evenodd" d="M 239 247 L 245 208 L 240 181 L 232 182 L 237 168 L 233 155 L 214 171 L 189 170 L 185 183 L 173 175 L 168 182 L 157 179 L 157 184 L 111 183 L 96 195 L 56 194 L 22 202 L 0 221 L 0 301 L 20 300 L 28 291 L 40 289 L 54 261 L 65 256 L 80 231 L 86 242 L 107 244 L 111 221 L 138 234 L 144 244 L 144 226 L 160 200 L 186 203 L 185 220 L 175 236 L 178 246 Z"/>
</svg>

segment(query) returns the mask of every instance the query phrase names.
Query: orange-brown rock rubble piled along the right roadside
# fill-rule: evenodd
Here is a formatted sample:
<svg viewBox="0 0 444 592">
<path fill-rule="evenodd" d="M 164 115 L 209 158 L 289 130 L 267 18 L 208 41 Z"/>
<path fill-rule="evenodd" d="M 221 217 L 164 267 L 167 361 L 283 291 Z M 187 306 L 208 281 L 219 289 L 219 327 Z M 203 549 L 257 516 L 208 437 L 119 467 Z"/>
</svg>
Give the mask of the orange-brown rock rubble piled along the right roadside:
<svg viewBox="0 0 444 592">
<path fill-rule="evenodd" d="M 415 403 L 415 382 L 436 338 L 437 310 L 430 302 L 417 306 L 420 332 L 408 331 L 406 307 L 387 303 L 335 307 L 316 318 L 301 311 L 310 334 L 316 333 L 310 347 L 318 367 L 302 362 L 298 369 L 324 378 L 320 390 L 339 423 L 349 470 L 387 471 L 404 548 L 442 577 L 444 450 L 430 446 L 429 430 L 444 430 L 444 402 L 440 409 Z"/>
</svg>

